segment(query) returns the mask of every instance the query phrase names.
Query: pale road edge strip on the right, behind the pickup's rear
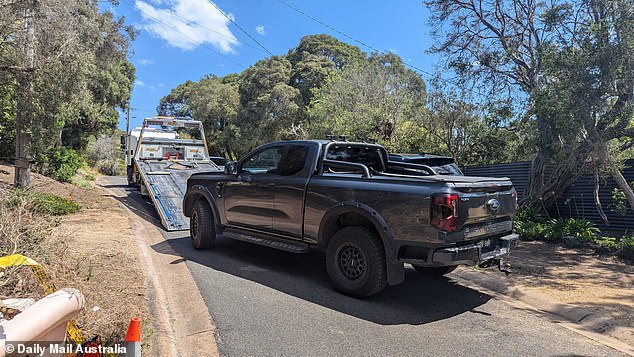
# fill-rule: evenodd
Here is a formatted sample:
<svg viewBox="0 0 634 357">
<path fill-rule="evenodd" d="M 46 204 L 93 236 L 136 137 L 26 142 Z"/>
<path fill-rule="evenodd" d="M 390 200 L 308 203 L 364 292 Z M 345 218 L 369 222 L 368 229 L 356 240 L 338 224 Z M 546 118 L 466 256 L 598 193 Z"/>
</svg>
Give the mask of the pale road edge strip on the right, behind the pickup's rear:
<svg viewBox="0 0 634 357">
<path fill-rule="evenodd" d="M 498 300 L 525 310 L 531 310 L 564 328 L 575 331 L 596 342 L 627 355 L 634 356 L 634 346 L 618 339 L 617 333 L 625 333 L 613 319 L 600 316 L 583 307 L 552 301 L 546 295 L 528 291 L 492 274 L 473 269 L 459 268 L 447 277 L 461 285 L 483 291 Z M 519 302 L 519 304 L 518 304 Z"/>
</svg>

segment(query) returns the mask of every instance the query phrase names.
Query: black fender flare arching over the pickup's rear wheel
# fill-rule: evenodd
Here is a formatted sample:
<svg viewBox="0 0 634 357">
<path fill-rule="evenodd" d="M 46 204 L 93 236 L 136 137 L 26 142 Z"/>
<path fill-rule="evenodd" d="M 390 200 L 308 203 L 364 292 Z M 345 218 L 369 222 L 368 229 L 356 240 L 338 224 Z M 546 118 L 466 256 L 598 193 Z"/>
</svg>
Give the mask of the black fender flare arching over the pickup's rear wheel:
<svg viewBox="0 0 634 357">
<path fill-rule="evenodd" d="M 396 257 L 396 248 L 394 246 L 394 236 L 385 219 L 372 207 L 355 201 L 344 201 L 328 209 L 319 225 L 319 241 L 323 242 L 324 248 L 327 247 L 330 237 L 326 236 L 329 231 L 328 226 L 334 222 L 342 214 L 356 213 L 367 219 L 374 229 L 379 233 L 381 242 L 385 249 L 385 263 L 387 267 L 387 282 L 389 285 L 397 285 L 405 280 L 405 267 Z M 334 232 L 333 232 L 334 233 Z"/>
</svg>

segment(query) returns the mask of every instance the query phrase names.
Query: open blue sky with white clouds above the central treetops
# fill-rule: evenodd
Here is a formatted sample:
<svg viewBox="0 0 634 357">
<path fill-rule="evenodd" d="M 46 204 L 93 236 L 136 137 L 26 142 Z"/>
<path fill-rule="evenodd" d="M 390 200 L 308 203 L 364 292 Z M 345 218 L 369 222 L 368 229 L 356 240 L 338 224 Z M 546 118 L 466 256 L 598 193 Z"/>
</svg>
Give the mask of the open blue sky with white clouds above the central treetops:
<svg viewBox="0 0 634 357">
<path fill-rule="evenodd" d="M 284 3 L 373 48 L 395 52 L 406 63 L 433 72 L 437 57 L 425 53 L 431 46 L 429 12 L 420 0 L 120 0 L 110 11 L 125 16 L 126 23 L 139 31 L 132 44 L 137 80 L 132 92 L 131 127 L 156 115 L 159 100 L 186 80 L 240 73 L 270 56 L 218 9 L 275 55 L 297 46 L 302 36 L 318 33 L 371 51 Z M 119 127 L 125 128 L 124 116 Z"/>
</svg>

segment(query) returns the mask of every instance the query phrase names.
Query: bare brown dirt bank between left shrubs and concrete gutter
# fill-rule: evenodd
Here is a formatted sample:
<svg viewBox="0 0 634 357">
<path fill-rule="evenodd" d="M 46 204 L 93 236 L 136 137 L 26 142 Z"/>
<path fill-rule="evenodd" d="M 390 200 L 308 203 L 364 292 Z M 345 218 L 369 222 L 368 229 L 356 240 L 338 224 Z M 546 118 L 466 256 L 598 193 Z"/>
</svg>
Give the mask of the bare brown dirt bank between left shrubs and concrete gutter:
<svg viewBox="0 0 634 357">
<path fill-rule="evenodd" d="M 12 184 L 13 174 L 13 167 L 0 163 L 0 185 Z M 78 213 L 51 218 L 59 222 L 46 238 L 49 254 L 39 252 L 32 258 L 49 270 L 58 288 L 74 287 L 85 295 L 86 308 L 77 319 L 84 335 L 120 340 L 133 317 L 149 326 L 145 278 L 123 209 L 99 188 L 79 188 L 38 174 L 32 174 L 31 182 L 32 190 L 70 198 L 82 206 Z M 42 294 L 39 289 L 27 287 L 24 294 Z M 144 332 L 145 341 L 150 334 Z"/>
</svg>

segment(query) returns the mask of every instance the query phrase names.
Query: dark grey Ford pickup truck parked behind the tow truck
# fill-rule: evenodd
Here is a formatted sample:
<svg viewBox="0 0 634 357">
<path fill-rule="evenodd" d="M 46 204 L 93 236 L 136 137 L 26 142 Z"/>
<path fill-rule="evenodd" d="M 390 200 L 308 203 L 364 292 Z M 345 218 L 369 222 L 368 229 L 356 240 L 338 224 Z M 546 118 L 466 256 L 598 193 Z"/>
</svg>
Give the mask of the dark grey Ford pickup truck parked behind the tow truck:
<svg viewBox="0 0 634 357">
<path fill-rule="evenodd" d="M 222 234 L 292 253 L 320 249 L 333 286 L 354 297 L 400 284 L 405 263 L 427 275 L 463 264 L 510 272 L 516 207 L 507 178 L 439 175 L 345 140 L 263 145 L 224 172 L 193 174 L 183 200 L 194 248 Z"/>
</svg>

